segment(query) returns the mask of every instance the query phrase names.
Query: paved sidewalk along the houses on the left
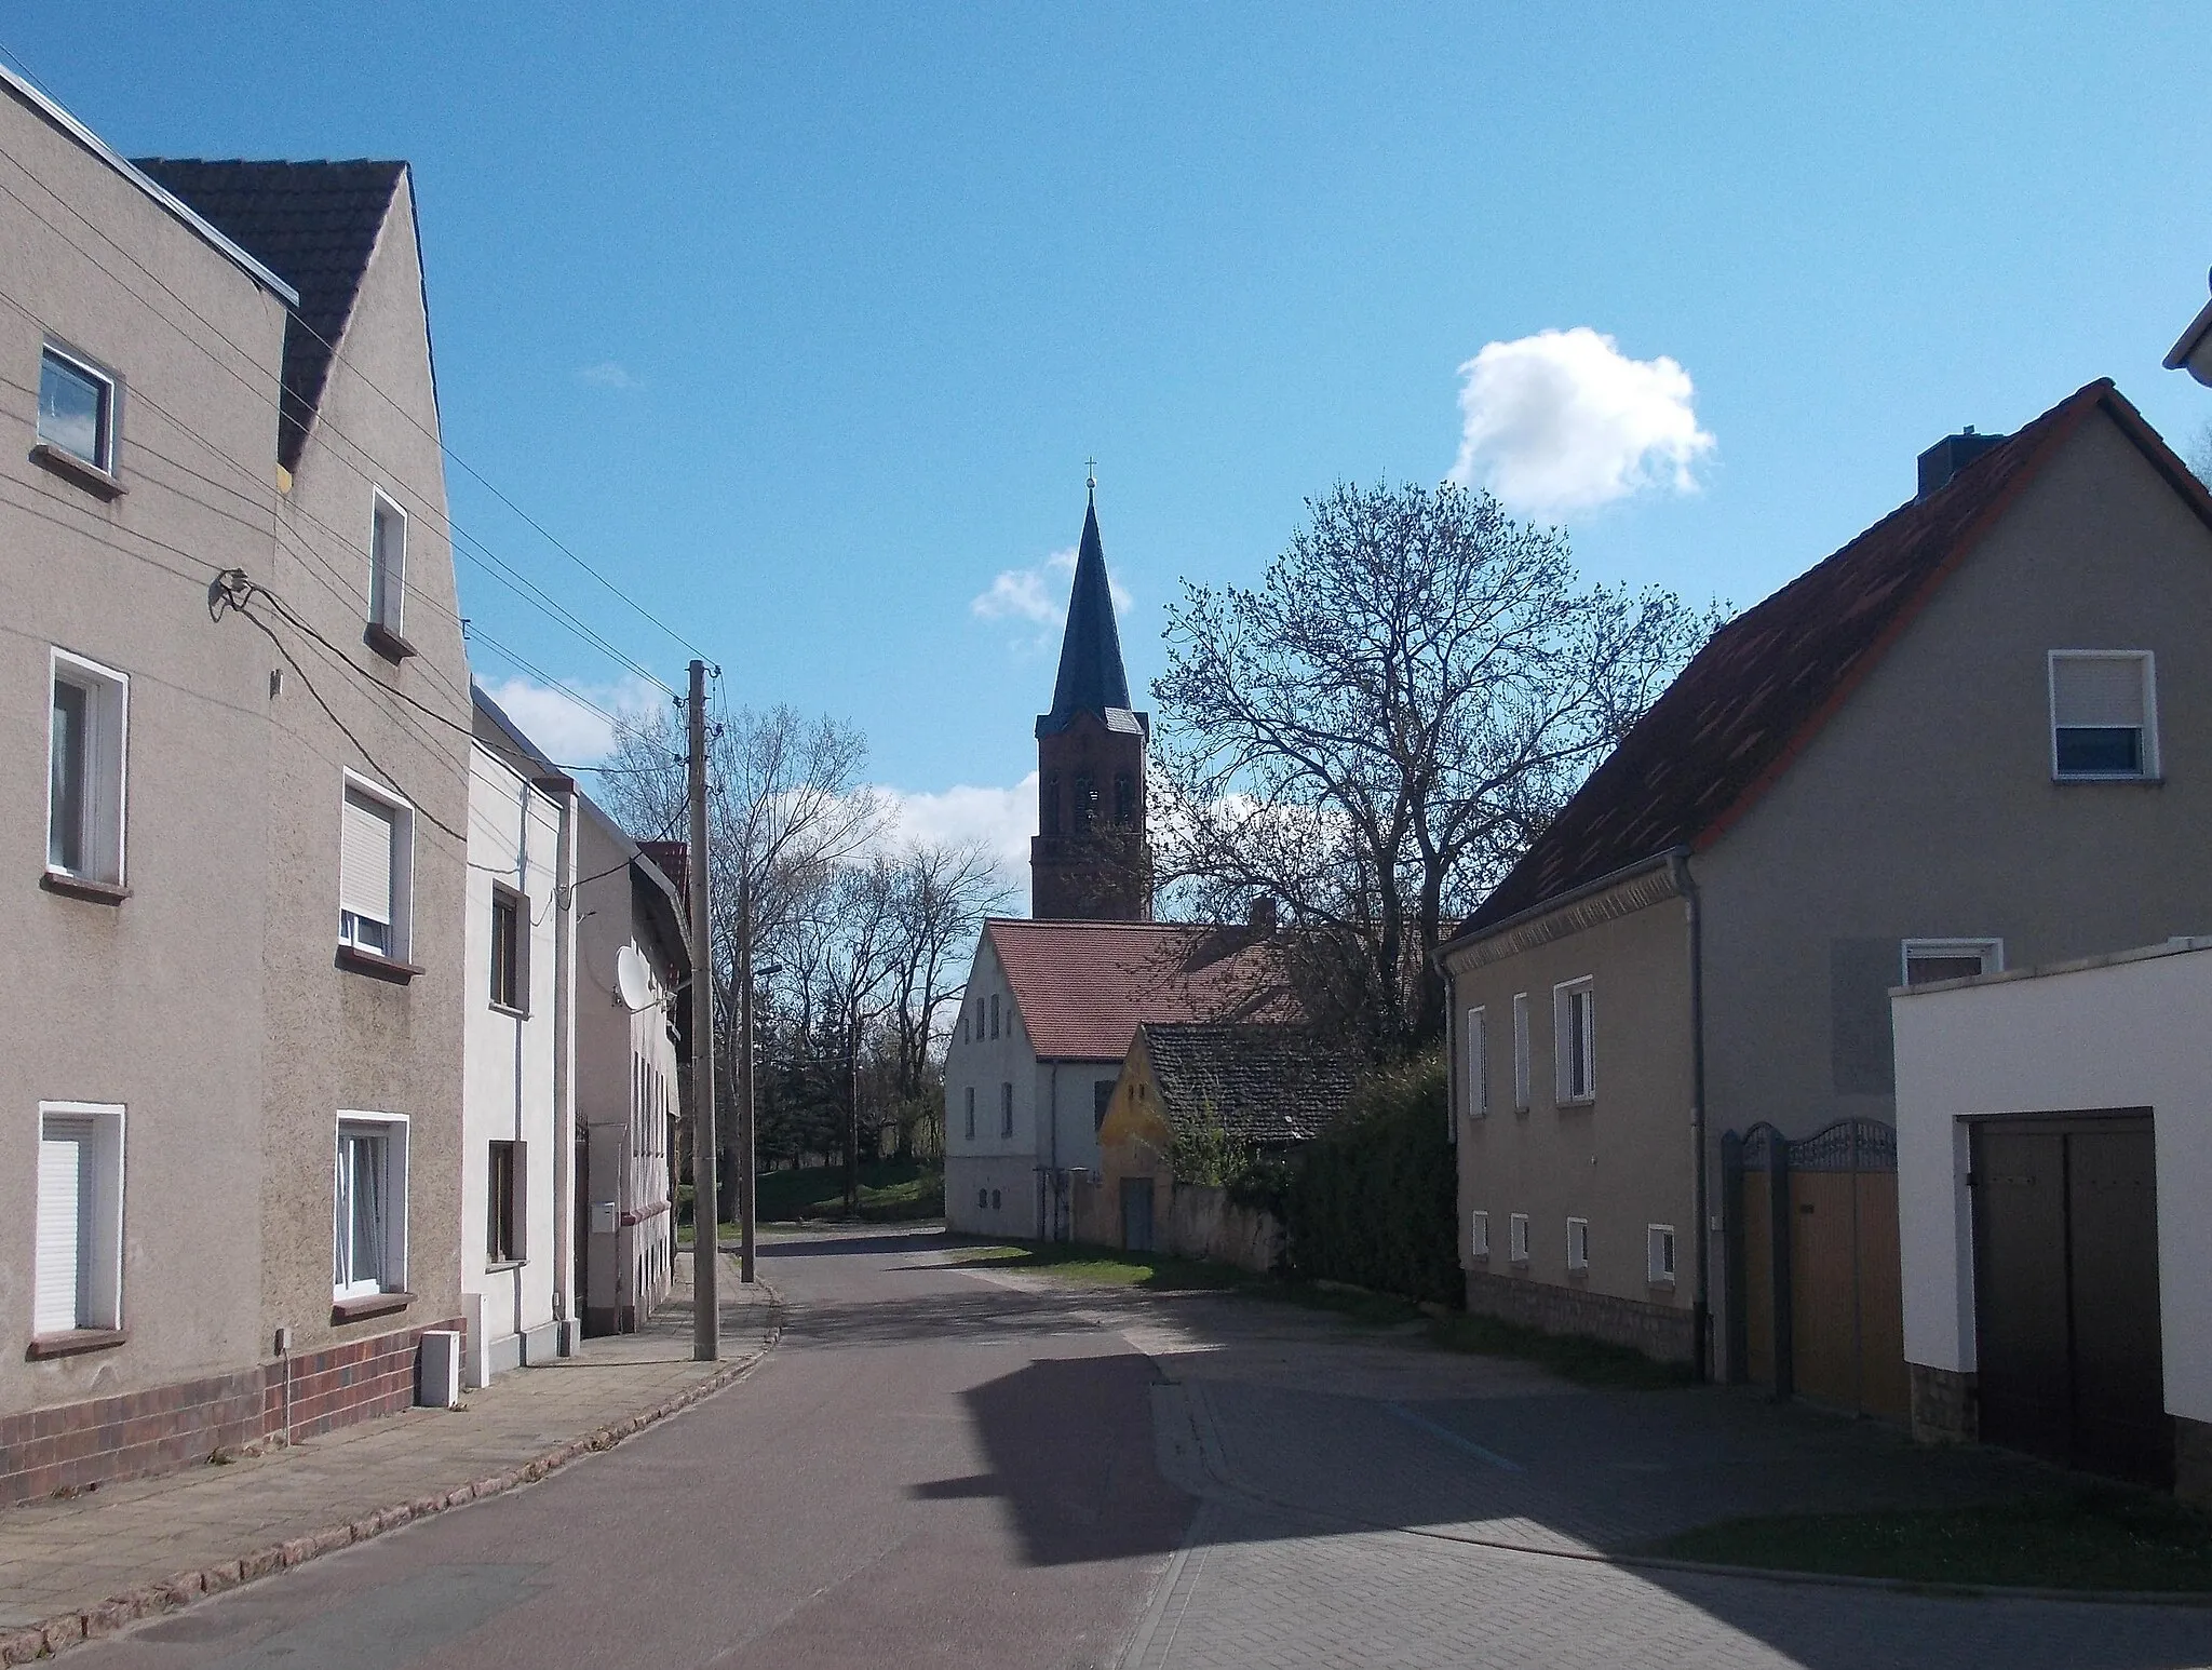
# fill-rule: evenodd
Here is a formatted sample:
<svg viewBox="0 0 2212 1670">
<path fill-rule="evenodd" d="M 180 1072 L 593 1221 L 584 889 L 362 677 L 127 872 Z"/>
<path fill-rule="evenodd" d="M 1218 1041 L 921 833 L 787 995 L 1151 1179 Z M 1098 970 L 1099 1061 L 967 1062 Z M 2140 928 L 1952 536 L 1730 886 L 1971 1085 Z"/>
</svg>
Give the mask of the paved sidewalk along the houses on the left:
<svg viewBox="0 0 2212 1670">
<path fill-rule="evenodd" d="M 128 1621 L 113 1612 L 159 1610 L 146 1590 L 168 1579 L 184 1588 L 168 1601 L 177 1604 L 299 1564 L 325 1553 L 316 1544 L 345 1546 L 438 1511 L 456 1493 L 471 1500 L 526 1482 L 672 1413 L 672 1405 L 757 1363 L 779 1325 L 774 1294 L 745 1287 L 737 1261 L 723 1256 L 723 1360 L 695 1363 L 688 1267 L 690 1259 L 679 1259 L 677 1290 L 641 1332 L 504 1374 L 469 1391 L 462 1409 L 409 1409 L 292 1449 L 270 1444 L 228 1467 L 188 1467 L 0 1511 L 0 1648 L 24 1626 L 69 1615 L 91 1615 L 91 1632 L 100 1632 L 102 1621 Z M 139 1599 L 102 1615 L 126 1595 Z"/>
</svg>

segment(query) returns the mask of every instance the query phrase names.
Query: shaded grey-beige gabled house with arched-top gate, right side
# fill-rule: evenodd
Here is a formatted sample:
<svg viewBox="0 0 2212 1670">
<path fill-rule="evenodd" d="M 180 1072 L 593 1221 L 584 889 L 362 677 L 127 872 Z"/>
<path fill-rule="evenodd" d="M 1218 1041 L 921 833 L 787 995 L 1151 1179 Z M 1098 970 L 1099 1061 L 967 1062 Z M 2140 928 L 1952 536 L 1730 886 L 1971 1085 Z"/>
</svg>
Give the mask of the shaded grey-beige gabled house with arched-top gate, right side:
<svg viewBox="0 0 2212 1670">
<path fill-rule="evenodd" d="M 1440 953 L 1469 1307 L 1902 1420 L 1889 991 L 2212 922 L 2208 628 L 2110 383 L 1725 626 Z"/>
</svg>

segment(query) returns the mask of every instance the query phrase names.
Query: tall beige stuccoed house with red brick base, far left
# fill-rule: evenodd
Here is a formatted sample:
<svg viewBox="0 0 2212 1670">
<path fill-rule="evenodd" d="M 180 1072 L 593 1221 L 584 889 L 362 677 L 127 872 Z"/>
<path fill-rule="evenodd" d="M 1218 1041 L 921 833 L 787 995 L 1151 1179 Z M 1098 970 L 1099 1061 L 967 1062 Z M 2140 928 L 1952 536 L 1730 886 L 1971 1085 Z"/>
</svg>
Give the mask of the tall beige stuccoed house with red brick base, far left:
<svg viewBox="0 0 2212 1670">
<path fill-rule="evenodd" d="M 405 164 L 0 71 L 0 1500 L 405 1407 L 460 1321 L 469 679 Z"/>
</svg>

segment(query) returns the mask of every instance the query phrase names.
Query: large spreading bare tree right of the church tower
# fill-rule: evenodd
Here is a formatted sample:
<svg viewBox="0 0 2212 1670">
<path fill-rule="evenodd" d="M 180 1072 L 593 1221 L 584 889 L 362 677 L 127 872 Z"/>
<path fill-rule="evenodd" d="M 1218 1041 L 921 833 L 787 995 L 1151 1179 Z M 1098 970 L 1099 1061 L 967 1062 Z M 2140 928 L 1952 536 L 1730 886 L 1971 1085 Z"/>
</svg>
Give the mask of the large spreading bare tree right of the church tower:
<svg viewBox="0 0 2212 1670">
<path fill-rule="evenodd" d="M 1256 591 L 1168 610 L 1159 841 L 1199 909 L 1276 900 L 1321 1020 L 1396 1055 L 1442 1033 L 1447 927 L 1719 613 L 1584 586 L 1564 531 L 1449 482 L 1307 513 Z"/>
</svg>

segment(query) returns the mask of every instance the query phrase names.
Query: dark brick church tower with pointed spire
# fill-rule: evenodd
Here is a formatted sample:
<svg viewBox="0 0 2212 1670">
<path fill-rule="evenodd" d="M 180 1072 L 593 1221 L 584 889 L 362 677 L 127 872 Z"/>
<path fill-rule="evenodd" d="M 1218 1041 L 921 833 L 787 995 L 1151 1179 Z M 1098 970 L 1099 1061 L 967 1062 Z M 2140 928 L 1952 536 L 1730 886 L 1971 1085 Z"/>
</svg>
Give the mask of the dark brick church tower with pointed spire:
<svg viewBox="0 0 2212 1670">
<path fill-rule="evenodd" d="M 1128 706 L 1093 480 L 1053 710 L 1037 717 L 1031 916 L 1152 920 L 1152 847 L 1144 838 L 1144 748 L 1150 734 L 1152 714 Z"/>
</svg>

